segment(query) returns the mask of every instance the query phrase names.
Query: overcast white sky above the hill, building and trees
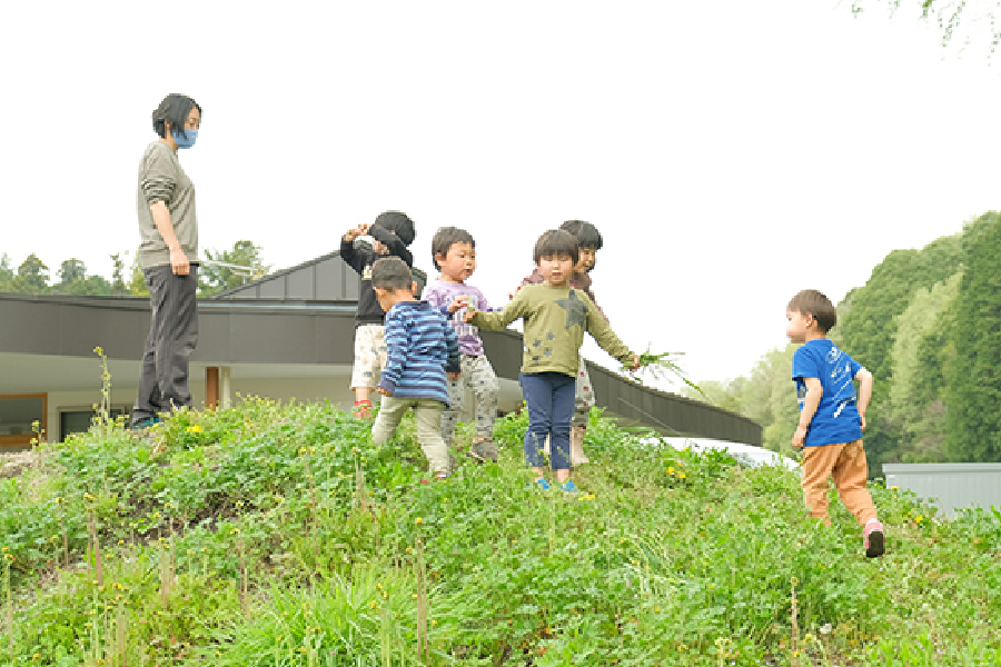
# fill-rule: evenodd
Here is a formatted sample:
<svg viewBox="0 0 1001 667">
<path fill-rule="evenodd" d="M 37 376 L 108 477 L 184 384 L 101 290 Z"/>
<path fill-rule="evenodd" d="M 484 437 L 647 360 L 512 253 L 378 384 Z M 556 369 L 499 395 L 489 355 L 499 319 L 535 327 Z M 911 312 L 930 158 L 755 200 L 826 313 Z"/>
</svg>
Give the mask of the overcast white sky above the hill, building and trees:
<svg viewBox="0 0 1001 667">
<path fill-rule="evenodd" d="M 613 328 L 695 380 L 783 346 L 797 290 L 839 301 L 999 208 L 997 68 L 881 4 L 20 2 L 0 61 L 14 266 L 135 251 L 150 112 L 184 92 L 202 249 L 288 268 L 398 209 L 426 270 L 437 227 L 468 229 L 502 303 L 542 231 L 588 220 Z"/>
</svg>

